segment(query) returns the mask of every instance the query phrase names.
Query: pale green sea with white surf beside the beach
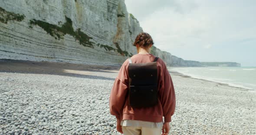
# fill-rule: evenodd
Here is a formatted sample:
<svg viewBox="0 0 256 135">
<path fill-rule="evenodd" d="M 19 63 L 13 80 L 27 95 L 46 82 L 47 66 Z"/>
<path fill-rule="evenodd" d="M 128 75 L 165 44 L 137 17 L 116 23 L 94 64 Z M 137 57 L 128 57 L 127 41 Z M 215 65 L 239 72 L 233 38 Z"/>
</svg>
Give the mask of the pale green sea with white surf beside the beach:
<svg viewBox="0 0 256 135">
<path fill-rule="evenodd" d="M 256 67 L 167 67 L 193 78 L 256 90 Z"/>
</svg>

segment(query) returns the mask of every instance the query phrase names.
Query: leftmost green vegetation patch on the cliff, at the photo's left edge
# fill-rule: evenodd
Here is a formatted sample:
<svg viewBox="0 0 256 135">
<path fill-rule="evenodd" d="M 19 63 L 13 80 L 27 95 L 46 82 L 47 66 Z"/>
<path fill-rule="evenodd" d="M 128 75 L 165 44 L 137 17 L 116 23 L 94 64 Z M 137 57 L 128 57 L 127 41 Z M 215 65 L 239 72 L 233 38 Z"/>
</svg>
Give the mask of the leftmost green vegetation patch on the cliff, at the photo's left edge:
<svg viewBox="0 0 256 135">
<path fill-rule="evenodd" d="M 0 7 L 0 22 L 1 23 L 6 23 L 10 20 L 15 20 L 18 22 L 21 22 L 26 16 L 8 12 L 4 10 L 2 7 Z"/>
</svg>

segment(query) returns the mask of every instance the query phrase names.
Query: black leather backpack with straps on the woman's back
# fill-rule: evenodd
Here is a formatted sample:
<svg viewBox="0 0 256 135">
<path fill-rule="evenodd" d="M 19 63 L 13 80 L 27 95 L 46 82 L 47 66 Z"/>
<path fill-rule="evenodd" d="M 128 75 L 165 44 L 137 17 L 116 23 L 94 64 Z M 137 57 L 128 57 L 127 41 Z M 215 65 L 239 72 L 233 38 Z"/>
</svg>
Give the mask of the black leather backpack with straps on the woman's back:
<svg viewBox="0 0 256 135">
<path fill-rule="evenodd" d="M 151 107 L 158 104 L 157 60 L 149 63 L 132 63 L 128 58 L 129 106 Z"/>
</svg>

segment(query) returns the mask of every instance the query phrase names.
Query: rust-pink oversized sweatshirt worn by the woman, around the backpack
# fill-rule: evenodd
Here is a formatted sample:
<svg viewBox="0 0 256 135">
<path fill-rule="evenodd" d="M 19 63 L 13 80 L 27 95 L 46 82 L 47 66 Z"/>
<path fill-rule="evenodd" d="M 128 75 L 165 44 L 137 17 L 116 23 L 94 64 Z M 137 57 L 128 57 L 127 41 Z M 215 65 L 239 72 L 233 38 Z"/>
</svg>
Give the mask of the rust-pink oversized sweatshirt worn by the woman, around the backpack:
<svg viewBox="0 0 256 135">
<path fill-rule="evenodd" d="M 152 54 L 137 54 L 131 57 L 132 63 L 154 61 Z M 158 58 L 158 105 L 153 107 L 133 108 L 128 104 L 128 59 L 122 64 L 109 98 L 110 113 L 117 119 L 141 120 L 148 122 L 171 122 L 176 100 L 174 85 L 164 61 Z"/>
</svg>

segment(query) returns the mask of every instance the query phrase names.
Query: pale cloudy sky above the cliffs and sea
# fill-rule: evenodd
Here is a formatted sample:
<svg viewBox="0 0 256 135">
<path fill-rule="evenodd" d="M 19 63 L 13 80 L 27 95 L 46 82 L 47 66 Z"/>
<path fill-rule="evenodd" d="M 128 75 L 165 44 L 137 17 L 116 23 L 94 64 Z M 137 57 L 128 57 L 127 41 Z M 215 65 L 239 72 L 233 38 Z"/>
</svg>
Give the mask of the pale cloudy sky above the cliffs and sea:
<svg viewBox="0 0 256 135">
<path fill-rule="evenodd" d="M 125 0 L 154 45 L 191 61 L 256 67 L 256 0 Z"/>
</svg>

